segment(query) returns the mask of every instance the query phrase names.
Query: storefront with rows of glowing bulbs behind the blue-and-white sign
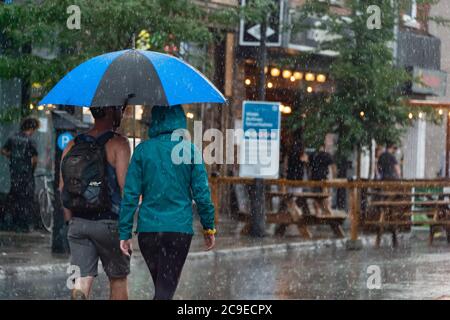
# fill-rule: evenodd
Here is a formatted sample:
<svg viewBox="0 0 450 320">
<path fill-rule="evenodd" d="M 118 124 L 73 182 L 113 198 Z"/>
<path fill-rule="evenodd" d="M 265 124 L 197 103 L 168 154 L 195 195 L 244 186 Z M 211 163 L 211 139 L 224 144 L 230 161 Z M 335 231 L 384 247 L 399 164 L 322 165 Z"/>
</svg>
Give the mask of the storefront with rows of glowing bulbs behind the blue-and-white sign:
<svg viewBox="0 0 450 320">
<path fill-rule="evenodd" d="M 300 37 L 301 38 L 301 37 Z M 265 100 L 281 103 L 282 123 L 281 162 L 289 153 L 289 141 L 297 140 L 303 145 L 303 137 L 300 130 L 292 130 L 288 119 L 299 114 L 306 118 L 308 103 L 314 99 L 323 99 L 333 91 L 334 83 L 329 76 L 329 67 L 333 55 L 327 53 L 312 54 L 308 45 L 308 39 L 303 37 L 305 46 L 293 44 L 285 39 L 280 47 L 270 47 L 267 52 L 267 64 L 265 66 Z M 315 44 L 317 45 L 317 43 Z M 258 100 L 258 50 L 257 46 L 240 45 L 236 40 L 235 50 L 235 77 L 233 85 L 233 116 L 235 127 L 241 126 L 241 110 L 244 100 Z M 295 133 L 294 133 L 295 131 Z M 302 146 L 302 148 L 308 146 Z M 282 176 L 285 174 L 281 169 Z"/>
</svg>

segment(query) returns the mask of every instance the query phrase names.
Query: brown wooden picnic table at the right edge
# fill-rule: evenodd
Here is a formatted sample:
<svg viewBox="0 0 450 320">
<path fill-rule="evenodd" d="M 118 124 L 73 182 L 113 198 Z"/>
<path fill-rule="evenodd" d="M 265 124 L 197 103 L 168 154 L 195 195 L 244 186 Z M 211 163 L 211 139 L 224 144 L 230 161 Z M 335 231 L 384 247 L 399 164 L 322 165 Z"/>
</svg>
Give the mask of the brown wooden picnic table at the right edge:
<svg viewBox="0 0 450 320">
<path fill-rule="evenodd" d="M 365 221 L 366 225 L 377 228 L 376 246 L 381 242 L 384 231 L 392 232 L 392 245 L 397 246 L 397 231 L 404 226 L 430 226 L 429 243 L 433 243 L 434 235 L 439 228 L 444 228 L 447 232 L 447 241 L 450 242 L 450 201 L 430 200 L 432 196 L 443 196 L 446 193 L 395 193 L 395 192 L 372 192 L 369 195 L 387 200 L 375 200 L 368 204 L 369 210 L 378 212 L 378 219 Z M 424 201 L 406 200 L 405 198 L 422 197 L 428 198 Z M 412 207 L 417 210 L 412 210 Z M 414 215 L 426 216 L 427 219 L 421 221 L 411 220 Z"/>
</svg>

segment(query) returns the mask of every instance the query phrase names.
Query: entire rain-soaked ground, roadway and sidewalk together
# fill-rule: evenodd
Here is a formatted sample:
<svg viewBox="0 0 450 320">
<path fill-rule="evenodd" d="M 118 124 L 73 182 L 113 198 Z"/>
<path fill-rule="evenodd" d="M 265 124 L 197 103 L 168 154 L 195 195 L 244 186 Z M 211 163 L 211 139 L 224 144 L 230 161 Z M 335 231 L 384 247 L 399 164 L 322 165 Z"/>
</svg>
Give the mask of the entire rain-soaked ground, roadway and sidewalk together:
<svg viewBox="0 0 450 320">
<path fill-rule="evenodd" d="M 196 223 L 196 228 L 199 228 Z M 433 246 L 427 232 L 402 233 L 392 248 L 389 235 L 380 248 L 374 236 L 361 237 L 363 249 L 348 251 L 346 239 L 326 227 L 313 228 L 313 240 L 295 228 L 283 238 L 253 239 L 239 234 L 242 224 L 222 221 L 215 250 L 204 251 L 194 237 L 176 299 L 448 299 L 450 246 L 444 236 Z M 69 299 L 67 255 L 50 253 L 49 234 L 0 233 L 0 299 Z M 379 272 L 379 287 L 369 277 Z M 108 279 L 99 269 L 93 299 L 108 299 Z M 135 243 L 130 299 L 151 299 L 153 285 Z M 207 284 L 207 285 L 205 285 Z"/>
</svg>

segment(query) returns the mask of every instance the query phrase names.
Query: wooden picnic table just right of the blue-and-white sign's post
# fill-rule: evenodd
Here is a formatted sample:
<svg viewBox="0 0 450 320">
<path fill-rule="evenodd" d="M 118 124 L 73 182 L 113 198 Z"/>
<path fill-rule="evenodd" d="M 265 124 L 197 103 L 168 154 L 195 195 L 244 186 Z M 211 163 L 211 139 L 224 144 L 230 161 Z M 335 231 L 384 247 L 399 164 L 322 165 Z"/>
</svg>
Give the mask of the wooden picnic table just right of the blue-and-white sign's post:
<svg viewBox="0 0 450 320">
<path fill-rule="evenodd" d="M 285 192 L 272 191 L 266 192 L 266 200 L 272 204 L 273 198 L 279 198 L 280 203 L 277 210 L 269 206 L 266 214 L 266 222 L 277 225 L 275 234 L 283 236 L 289 225 L 295 225 L 304 238 L 311 239 L 312 233 L 308 226 L 311 225 L 329 225 L 333 233 L 339 237 L 345 237 L 342 230 L 342 223 L 347 216 L 345 214 L 333 213 L 326 204 L 326 199 L 330 197 L 328 193 L 314 192 Z M 318 212 L 311 212 L 308 200 L 312 200 L 319 208 Z M 248 214 L 240 215 L 241 220 L 247 222 L 242 232 L 247 233 L 250 230 L 250 220 Z"/>
</svg>

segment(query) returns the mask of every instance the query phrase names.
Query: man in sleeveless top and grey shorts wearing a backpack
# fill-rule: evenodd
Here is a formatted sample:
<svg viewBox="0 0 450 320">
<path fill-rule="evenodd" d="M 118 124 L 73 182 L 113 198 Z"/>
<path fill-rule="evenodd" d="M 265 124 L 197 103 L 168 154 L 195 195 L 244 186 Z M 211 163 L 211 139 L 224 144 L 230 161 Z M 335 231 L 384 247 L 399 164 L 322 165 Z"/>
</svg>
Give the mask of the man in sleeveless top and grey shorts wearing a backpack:
<svg viewBox="0 0 450 320">
<path fill-rule="evenodd" d="M 128 139 L 115 133 L 123 107 L 94 107 L 94 127 L 62 155 L 60 191 L 71 265 L 79 268 L 72 299 L 88 299 L 100 259 L 111 299 L 128 299 L 130 258 L 119 247 L 118 213 L 130 161 Z"/>
</svg>

